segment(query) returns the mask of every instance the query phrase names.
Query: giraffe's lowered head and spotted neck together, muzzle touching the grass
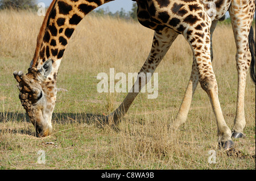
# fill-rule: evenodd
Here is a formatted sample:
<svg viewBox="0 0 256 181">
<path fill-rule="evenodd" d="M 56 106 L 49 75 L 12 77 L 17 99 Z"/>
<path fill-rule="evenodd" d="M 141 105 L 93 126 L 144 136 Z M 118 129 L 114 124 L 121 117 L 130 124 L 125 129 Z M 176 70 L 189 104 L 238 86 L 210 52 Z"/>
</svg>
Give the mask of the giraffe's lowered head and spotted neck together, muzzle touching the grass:
<svg viewBox="0 0 256 181">
<path fill-rule="evenodd" d="M 82 18 L 96 7 L 113 0 L 53 0 L 40 28 L 28 73 L 14 71 L 19 83 L 19 99 L 36 129 L 36 136 L 52 132 L 56 77 L 68 40 Z"/>
</svg>

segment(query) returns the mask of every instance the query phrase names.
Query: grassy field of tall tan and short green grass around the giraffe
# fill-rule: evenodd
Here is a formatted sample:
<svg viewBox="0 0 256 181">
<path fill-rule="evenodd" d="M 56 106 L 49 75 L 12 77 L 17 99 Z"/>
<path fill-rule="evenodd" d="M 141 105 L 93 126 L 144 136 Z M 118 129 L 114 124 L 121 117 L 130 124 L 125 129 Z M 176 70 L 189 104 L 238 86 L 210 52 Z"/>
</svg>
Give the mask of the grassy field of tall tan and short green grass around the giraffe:
<svg viewBox="0 0 256 181">
<path fill-rule="evenodd" d="M 159 65 L 159 95 L 139 94 L 114 131 L 89 122 L 108 114 L 126 93 L 98 93 L 98 73 L 138 72 L 150 51 L 153 31 L 140 24 L 86 16 L 69 41 L 61 63 L 54 132 L 36 138 L 18 99 L 14 70 L 26 71 L 43 17 L 0 11 L 0 169 L 255 169 L 255 86 L 247 77 L 246 138 L 234 140 L 236 154 L 217 146 L 217 125 L 207 94 L 197 87 L 187 123 L 168 130 L 176 116 L 192 67 L 192 53 L 179 36 Z M 218 26 L 213 37 L 220 103 L 226 123 L 236 114 L 236 46 L 232 28 Z M 39 150 L 46 163 L 37 163 Z M 209 151 L 216 151 L 210 164 Z"/>
</svg>

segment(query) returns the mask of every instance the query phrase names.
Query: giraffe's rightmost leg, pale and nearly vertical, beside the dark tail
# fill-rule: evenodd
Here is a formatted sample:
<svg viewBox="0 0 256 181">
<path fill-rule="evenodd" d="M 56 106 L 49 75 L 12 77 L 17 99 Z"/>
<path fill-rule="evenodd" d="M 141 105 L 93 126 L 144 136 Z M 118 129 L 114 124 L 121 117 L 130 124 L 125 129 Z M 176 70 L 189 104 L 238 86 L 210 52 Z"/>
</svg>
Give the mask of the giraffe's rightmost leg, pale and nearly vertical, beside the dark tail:
<svg viewBox="0 0 256 181">
<path fill-rule="evenodd" d="M 242 6 L 242 7 L 241 7 Z M 237 88 L 237 111 L 234 119 L 234 127 L 232 128 L 232 137 L 242 138 L 243 128 L 245 128 L 245 85 L 246 74 L 251 63 L 251 53 L 249 48 L 249 33 L 253 15 L 255 12 L 255 1 L 249 3 L 232 2 L 229 9 L 230 18 L 232 20 L 232 28 L 234 39 L 236 41 L 237 53 L 237 73 L 238 73 L 238 88 Z M 252 32 L 253 34 L 253 32 Z M 253 35 L 251 35 L 253 36 Z M 255 45 L 254 45 L 255 46 Z M 254 55 L 255 56 L 255 49 Z"/>
</svg>

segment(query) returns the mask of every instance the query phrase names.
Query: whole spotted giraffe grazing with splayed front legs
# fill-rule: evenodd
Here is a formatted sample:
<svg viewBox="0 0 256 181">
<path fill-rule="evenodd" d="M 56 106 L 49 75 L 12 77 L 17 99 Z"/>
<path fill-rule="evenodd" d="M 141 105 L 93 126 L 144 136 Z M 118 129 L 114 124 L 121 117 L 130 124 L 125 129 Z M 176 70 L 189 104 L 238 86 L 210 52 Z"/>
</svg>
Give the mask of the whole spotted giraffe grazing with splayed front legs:
<svg viewBox="0 0 256 181">
<path fill-rule="evenodd" d="M 68 40 L 77 24 L 86 14 L 98 6 L 114 0 L 53 0 L 40 28 L 35 54 L 28 73 L 14 71 L 19 82 L 19 99 L 36 129 L 36 136 L 52 133 L 52 112 L 55 107 L 57 71 Z M 255 12 L 255 0 L 133 0 L 137 2 L 139 23 L 154 30 L 152 47 L 139 75 L 154 73 L 164 55 L 178 35 L 183 35 L 193 52 L 191 76 L 176 119 L 171 128 L 185 123 L 193 94 L 198 83 L 207 92 L 216 117 L 219 144 L 225 150 L 232 148 L 232 137 L 243 137 L 245 127 L 243 100 L 246 72 L 254 65 L 255 48 L 251 45 L 251 22 Z M 214 6 L 213 6 L 214 5 Z M 213 6 L 213 7 L 212 7 Z M 218 100 L 218 87 L 212 68 L 212 35 L 218 20 L 229 11 L 237 45 L 238 96 L 237 115 L 232 131 L 226 125 Z M 249 36 L 250 35 L 250 36 Z M 250 45 L 250 46 L 249 46 Z M 250 47 L 250 48 L 249 48 Z M 251 68 L 254 70 L 254 68 Z M 252 71 L 253 72 L 253 71 Z M 139 91 L 149 81 L 139 79 Z M 255 71 L 254 75 L 255 83 Z M 134 86 L 133 88 L 134 89 Z M 116 124 L 125 115 L 139 92 L 129 91 L 120 106 L 105 118 Z"/>
</svg>

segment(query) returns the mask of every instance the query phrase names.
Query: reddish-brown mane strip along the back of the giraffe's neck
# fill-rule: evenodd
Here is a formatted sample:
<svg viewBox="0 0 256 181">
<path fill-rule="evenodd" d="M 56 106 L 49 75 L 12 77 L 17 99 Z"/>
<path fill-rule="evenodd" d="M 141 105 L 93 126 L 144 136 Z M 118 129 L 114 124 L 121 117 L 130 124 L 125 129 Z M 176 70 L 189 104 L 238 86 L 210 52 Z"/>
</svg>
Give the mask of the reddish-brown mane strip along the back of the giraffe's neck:
<svg viewBox="0 0 256 181">
<path fill-rule="evenodd" d="M 40 28 L 38 39 L 36 41 L 36 49 L 35 49 L 35 54 L 32 60 L 31 68 L 35 67 L 36 62 L 38 61 L 39 51 L 43 42 L 44 33 L 46 32 L 47 24 L 49 22 L 49 16 L 51 15 L 53 7 L 55 7 L 56 1 L 57 0 L 52 1 L 51 5 L 49 6 L 46 12 L 46 16 L 44 17 L 43 24 L 42 24 L 42 27 Z"/>
</svg>

